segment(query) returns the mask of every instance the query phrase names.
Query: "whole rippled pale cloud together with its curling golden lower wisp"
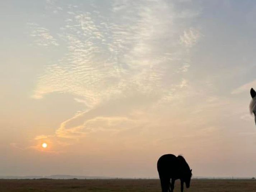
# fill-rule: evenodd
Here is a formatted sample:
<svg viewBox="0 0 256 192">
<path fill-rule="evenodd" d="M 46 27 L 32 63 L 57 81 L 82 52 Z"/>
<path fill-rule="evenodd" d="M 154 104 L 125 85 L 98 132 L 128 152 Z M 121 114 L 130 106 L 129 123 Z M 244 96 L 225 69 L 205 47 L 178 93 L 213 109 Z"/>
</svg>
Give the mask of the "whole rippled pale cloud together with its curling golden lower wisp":
<svg viewBox="0 0 256 192">
<path fill-rule="evenodd" d="M 60 6 L 56 2 L 54 5 Z M 176 15 L 174 6 L 166 1 L 113 1 L 106 5 L 109 8 L 106 12 L 96 5 L 88 6 L 93 11 L 60 6 L 65 23 L 60 24 L 54 37 L 61 42 L 46 29 L 32 33 L 40 39 L 36 44 L 45 42 L 46 46 L 60 45 L 67 50 L 38 76 L 32 97 L 41 99 L 54 92 L 70 93 L 86 108 L 61 123 L 54 135 L 59 138 L 75 139 L 91 131 L 115 132 L 136 127 L 139 121 L 126 116 L 131 112 L 128 108 L 124 116 L 87 117 L 87 113 L 113 98 L 125 98 L 124 103 L 128 104 L 132 98 L 148 107 L 178 98 L 178 90 L 188 85 L 183 77 L 190 67 L 188 50 L 199 39 L 197 30 L 175 24 L 176 19 L 187 22 L 187 17 Z M 147 103 L 145 95 L 151 97 Z"/>
</svg>

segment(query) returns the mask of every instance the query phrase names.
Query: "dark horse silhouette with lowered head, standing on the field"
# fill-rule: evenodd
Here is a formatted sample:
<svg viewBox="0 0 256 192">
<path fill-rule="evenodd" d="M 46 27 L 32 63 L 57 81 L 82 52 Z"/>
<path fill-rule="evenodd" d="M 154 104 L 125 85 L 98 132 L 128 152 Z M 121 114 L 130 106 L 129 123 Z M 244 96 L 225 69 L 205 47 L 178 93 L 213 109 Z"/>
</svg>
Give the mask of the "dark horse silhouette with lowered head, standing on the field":
<svg viewBox="0 0 256 192">
<path fill-rule="evenodd" d="M 173 154 L 161 156 L 157 161 L 157 170 L 161 181 L 162 192 L 173 192 L 176 179 L 181 180 L 181 192 L 183 192 L 184 182 L 186 183 L 186 187 L 189 188 L 192 169 L 190 170 L 183 156 L 179 155 L 176 157 Z"/>
</svg>

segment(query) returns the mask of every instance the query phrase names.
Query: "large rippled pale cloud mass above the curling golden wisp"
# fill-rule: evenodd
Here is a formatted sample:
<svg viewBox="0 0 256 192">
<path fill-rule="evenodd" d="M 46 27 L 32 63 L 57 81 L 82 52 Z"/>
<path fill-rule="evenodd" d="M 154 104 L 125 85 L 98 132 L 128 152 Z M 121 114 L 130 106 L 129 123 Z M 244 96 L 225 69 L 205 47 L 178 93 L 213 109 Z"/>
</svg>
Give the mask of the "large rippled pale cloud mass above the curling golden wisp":
<svg viewBox="0 0 256 192">
<path fill-rule="evenodd" d="M 141 1 L 136 7 L 118 1 L 106 18 L 75 8 L 67 11 L 59 37 L 66 42 L 68 53 L 39 76 L 33 97 L 69 92 L 95 106 L 126 90 L 165 92 L 166 76 L 172 76 L 171 71 L 187 72 L 190 66 L 185 50 L 175 40 L 180 34 L 175 32 L 170 9 L 164 1 L 146 5 Z M 194 29 L 184 33 L 184 42 L 195 43 Z"/>
</svg>

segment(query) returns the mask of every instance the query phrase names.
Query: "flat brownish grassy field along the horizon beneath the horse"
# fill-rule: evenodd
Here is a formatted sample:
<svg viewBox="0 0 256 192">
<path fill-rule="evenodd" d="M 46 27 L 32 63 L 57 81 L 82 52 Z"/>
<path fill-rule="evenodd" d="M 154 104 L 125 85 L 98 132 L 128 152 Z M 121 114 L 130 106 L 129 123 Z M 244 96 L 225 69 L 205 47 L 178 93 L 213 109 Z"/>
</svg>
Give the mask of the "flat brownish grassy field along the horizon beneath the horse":
<svg viewBox="0 0 256 192">
<path fill-rule="evenodd" d="M 0 192 L 161 192 L 157 179 L 0 179 Z M 180 191 L 176 182 L 175 192 Z M 252 192 L 256 191 L 253 180 L 193 179 L 190 192 Z"/>
</svg>

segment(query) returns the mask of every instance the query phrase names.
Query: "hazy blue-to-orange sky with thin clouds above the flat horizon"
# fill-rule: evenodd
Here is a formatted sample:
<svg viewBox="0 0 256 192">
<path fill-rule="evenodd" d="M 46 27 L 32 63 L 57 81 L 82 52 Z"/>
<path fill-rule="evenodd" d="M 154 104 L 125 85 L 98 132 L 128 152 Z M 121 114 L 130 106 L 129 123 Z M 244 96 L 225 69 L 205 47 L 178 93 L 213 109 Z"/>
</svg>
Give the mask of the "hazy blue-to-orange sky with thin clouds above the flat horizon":
<svg viewBox="0 0 256 192">
<path fill-rule="evenodd" d="M 0 2 L 0 174 L 256 176 L 256 2 Z M 46 142 L 48 147 L 42 147 Z"/>
</svg>

